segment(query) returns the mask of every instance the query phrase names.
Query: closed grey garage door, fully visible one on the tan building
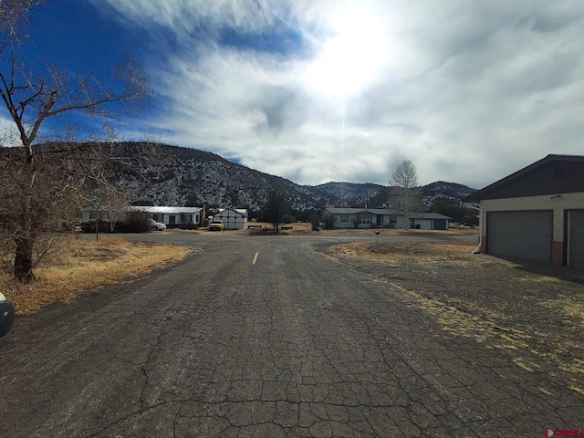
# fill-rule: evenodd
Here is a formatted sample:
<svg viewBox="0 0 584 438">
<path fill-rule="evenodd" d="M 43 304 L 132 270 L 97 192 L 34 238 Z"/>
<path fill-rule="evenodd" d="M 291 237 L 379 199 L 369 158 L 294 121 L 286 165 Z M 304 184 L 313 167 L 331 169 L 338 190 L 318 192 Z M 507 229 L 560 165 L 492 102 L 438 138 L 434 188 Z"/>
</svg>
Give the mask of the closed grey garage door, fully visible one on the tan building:
<svg viewBox="0 0 584 438">
<path fill-rule="evenodd" d="M 552 217 L 551 211 L 489 212 L 487 252 L 550 263 Z"/>
</svg>

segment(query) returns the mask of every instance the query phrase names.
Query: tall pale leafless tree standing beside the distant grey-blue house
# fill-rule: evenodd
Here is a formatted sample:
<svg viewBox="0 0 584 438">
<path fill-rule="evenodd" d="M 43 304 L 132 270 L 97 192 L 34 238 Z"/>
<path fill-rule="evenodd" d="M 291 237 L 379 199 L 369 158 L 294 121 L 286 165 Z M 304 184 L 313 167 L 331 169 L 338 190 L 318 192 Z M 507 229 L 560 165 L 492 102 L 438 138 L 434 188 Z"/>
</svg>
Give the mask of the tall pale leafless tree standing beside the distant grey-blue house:
<svg viewBox="0 0 584 438">
<path fill-rule="evenodd" d="M 416 165 L 409 160 L 401 162 L 391 173 L 390 185 L 390 204 L 404 215 L 404 228 L 407 228 L 410 216 L 421 205 Z"/>
</svg>

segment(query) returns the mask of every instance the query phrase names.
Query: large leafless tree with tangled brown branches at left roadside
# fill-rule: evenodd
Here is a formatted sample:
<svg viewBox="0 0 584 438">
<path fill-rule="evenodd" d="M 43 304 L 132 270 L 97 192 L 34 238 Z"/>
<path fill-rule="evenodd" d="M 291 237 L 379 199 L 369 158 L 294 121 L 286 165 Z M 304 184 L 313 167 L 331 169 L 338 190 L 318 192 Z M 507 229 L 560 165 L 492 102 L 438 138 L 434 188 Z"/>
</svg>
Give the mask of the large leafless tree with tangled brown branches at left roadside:
<svg viewBox="0 0 584 438">
<path fill-rule="evenodd" d="M 0 97 L 13 129 L 2 144 L 8 148 L 0 162 L 5 200 L 0 224 L 14 242 L 14 275 L 21 281 L 34 278 L 34 248 L 41 236 L 58 230 L 78 201 L 106 181 L 108 161 L 122 160 L 111 143 L 99 141 L 112 138 L 109 120 L 136 110 L 151 94 L 149 78 L 131 58 L 113 71 L 108 84 L 21 58 L 26 41 L 17 26 L 25 26 L 27 13 L 38 3 L 0 1 L 0 16 L 10 17 L 0 26 Z M 70 126 L 71 115 L 79 113 L 103 120 L 90 141 L 71 142 L 67 128 L 59 139 L 66 141 L 41 141 L 44 122 L 59 119 Z"/>
</svg>

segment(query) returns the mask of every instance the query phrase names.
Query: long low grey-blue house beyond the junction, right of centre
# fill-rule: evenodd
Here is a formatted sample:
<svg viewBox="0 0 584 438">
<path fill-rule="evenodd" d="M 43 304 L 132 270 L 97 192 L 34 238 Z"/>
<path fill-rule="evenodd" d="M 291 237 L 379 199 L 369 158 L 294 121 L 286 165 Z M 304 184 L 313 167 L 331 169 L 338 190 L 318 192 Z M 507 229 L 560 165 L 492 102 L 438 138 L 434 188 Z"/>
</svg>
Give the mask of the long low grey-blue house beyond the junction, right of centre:
<svg viewBox="0 0 584 438">
<path fill-rule="evenodd" d="M 420 230 L 447 230 L 451 217 L 437 213 L 412 213 L 406 224 L 405 216 L 398 210 L 387 208 L 336 208 L 328 207 L 323 215 L 333 217 L 334 228 L 411 228 Z M 407 226 L 406 226 L 407 225 Z"/>
</svg>

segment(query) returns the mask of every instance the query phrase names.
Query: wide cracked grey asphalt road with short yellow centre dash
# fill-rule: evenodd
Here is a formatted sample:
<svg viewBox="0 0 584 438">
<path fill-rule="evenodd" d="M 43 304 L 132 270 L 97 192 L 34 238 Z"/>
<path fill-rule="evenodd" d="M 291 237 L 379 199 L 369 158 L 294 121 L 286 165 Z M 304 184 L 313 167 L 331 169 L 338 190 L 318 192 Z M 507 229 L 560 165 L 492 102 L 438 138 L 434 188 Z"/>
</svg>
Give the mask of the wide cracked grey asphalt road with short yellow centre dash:
<svg viewBox="0 0 584 438">
<path fill-rule="evenodd" d="M 145 238 L 204 252 L 19 318 L 0 339 L 0 436 L 584 429 L 558 370 L 446 333 L 413 297 L 314 251 L 328 239 Z"/>
</svg>

